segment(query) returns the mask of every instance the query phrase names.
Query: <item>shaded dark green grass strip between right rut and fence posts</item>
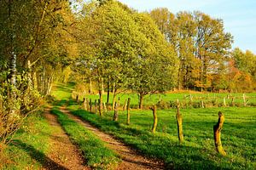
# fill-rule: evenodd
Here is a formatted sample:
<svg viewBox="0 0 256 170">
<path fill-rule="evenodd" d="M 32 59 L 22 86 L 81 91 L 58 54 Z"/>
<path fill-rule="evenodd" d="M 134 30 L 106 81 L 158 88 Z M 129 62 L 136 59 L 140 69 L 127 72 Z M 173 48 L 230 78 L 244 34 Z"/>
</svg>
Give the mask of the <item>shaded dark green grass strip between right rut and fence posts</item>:
<svg viewBox="0 0 256 170">
<path fill-rule="evenodd" d="M 73 110 L 72 113 L 102 131 L 114 135 L 116 139 L 120 139 L 143 155 L 165 161 L 166 169 L 220 169 L 223 166 L 211 160 L 207 156 L 211 153 L 203 148 L 181 145 L 165 136 L 153 135 L 143 129 L 120 125 L 119 122 L 101 118 L 88 111 Z M 226 166 L 229 167 L 224 165 Z"/>
</svg>

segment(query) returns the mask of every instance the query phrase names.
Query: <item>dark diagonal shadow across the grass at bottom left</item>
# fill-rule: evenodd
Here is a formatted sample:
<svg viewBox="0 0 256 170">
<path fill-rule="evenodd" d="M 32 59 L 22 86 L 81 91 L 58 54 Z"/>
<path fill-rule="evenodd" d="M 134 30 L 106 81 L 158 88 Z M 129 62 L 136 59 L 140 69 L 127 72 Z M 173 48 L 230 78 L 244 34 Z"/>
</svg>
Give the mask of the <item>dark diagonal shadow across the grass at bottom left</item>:
<svg viewBox="0 0 256 170">
<path fill-rule="evenodd" d="M 25 150 L 33 159 L 41 163 L 41 165 L 46 169 L 56 169 L 56 170 L 66 170 L 66 167 L 61 166 L 57 162 L 50 159 L 48 156 L 45 156 L 39 150 L 36 150 L 32 145 L 21 142 L 20 140 L 14 140 L 12 142 L 16 147 L 21 150 Z"/>
</svg>

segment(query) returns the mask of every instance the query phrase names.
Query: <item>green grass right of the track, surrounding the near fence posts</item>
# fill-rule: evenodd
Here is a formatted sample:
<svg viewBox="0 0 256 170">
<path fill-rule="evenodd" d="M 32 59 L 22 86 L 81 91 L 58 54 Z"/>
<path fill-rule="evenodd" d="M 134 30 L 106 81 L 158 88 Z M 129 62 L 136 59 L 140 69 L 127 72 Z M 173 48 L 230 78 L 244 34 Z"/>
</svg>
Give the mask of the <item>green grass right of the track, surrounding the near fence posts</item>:
<svg viewBox="0 0 256 170">
<path fill-rule="evenodd" d="M 55 92 L 70 99 L 71 88 Z M 181 94 L 183 95 L 183 94 Z M 256 164 L 256 108 L 225 107 L 182 109 L 184 142 L 177 139 L 175 110 L 157 111 L 157 133 L 150 133 L 152 111 L 131 111 L 131 125 L 125 125 L 125 111 L 119 111 L 119 122 L 113 122 L 113 111 L 103 117 L 79 110 L 69 102 L 74 115 L 93 123 L 107 133 L 130 144 L 143 154 L 161 159 L 175 169 L 255 169 Z M 222 143 L 227 156 L 220 156 L 214 148 L 212 127 L 218 122 L 218 111 L 225 116 Z"/>
</svg>

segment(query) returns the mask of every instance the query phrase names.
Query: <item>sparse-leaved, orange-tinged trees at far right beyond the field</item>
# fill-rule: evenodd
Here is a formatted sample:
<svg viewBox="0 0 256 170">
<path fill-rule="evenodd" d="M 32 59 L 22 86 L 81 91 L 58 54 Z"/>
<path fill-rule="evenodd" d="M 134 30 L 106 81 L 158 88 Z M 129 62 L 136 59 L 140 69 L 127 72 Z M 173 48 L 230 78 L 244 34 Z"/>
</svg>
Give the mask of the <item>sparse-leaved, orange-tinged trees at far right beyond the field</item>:
<svg viewBox="0 0 256 170">
<path fill-rule="evenodd" d="M 255 88 L 255 55 L 249 51 L 243 54 L 238 48 L 230 50 L 233 37 L 224 32 L 223 20 L 212 19 L 198 11 L 175 15 L 167 8 L 156 8 L 150 15 L 180 60 L 178 88 Z"/>
</svg>

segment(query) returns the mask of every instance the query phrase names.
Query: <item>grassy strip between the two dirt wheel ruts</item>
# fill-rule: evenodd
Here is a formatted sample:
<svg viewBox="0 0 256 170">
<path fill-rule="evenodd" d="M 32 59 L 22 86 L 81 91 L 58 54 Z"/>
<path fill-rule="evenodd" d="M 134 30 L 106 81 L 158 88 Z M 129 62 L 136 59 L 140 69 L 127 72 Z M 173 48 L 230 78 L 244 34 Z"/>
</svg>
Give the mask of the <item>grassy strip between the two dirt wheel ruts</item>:
<svg viewBox="0 0 256 170">
<path fill-rule="evenodd" d="M 95 134 L 69 119 L 57 107 L 53 108 L 51 112 L 58 116 L 61 126 L 73 142 L 79 145 L 79 149 L 82 150 L 88 166 L 96 169 L 113 169 L 118 165 L 119 157 L 113 150 L 108 149 Z"/>
</svg>

